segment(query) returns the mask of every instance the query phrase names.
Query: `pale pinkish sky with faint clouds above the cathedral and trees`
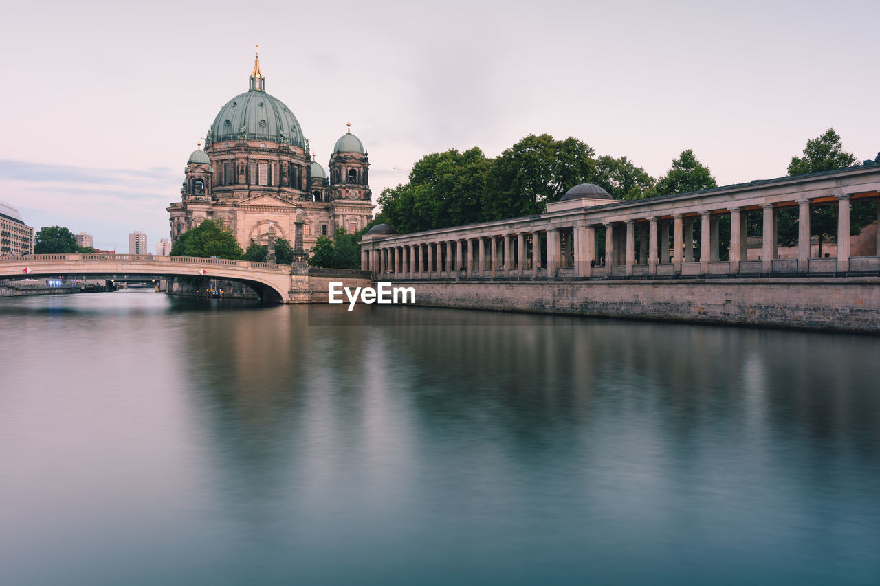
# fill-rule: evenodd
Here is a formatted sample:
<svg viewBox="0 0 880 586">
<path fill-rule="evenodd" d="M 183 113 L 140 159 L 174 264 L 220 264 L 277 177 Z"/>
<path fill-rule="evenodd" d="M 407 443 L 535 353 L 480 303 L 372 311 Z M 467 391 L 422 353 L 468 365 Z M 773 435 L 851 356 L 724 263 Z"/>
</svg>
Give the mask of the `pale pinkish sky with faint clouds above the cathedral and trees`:
<svg viewBox="0 0 880 586">
<path fill-rule="evenodd" d="M 692 149 L 719 185 L 786 174 L 835 128 L 880 150 L 880 4 L 19 2 L 0 35 L 0 200 L 128 252 L 168 238 L 189 153 L 266 89 L 317 159 L 351 121 L 374 201 L 430 152 L 575 136 L 653 176 Z"/>
</svg>

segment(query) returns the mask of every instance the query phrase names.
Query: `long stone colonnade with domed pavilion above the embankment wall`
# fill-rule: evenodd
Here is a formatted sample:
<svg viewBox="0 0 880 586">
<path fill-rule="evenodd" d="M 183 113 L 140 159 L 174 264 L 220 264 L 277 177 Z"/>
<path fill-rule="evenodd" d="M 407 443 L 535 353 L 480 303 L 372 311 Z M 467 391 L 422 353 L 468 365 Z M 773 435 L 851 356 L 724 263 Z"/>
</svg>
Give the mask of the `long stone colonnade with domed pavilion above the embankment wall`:
<svg viewBox="0 0 880 586">
<path fill-rule="evenodd" d="M 850 202 L 878 199 L 880 165 L 635 201 L 598 197 L 598 188 L 590 187 L 594 189 L 586 196 L 567 195 L 547 204 L 540 216 L 406 235 L 370 231 L 363 238 L 361 267 L 397 279 L 880 271 L 880 231 L 874 256 L 849 256 Z M 810 257 L 809 218 L 814 206 L 839 210 L 838 258 Z M 796 259 L 777 258 L 777 218 L 782 209 L 797 210 Z M 768 235 L 762 238 L 760 260 L 746 256 L 750 215 L 758 215 L 761 231 Z M 700 236 L 695 238 L 698 230 Z"/>
</svg>

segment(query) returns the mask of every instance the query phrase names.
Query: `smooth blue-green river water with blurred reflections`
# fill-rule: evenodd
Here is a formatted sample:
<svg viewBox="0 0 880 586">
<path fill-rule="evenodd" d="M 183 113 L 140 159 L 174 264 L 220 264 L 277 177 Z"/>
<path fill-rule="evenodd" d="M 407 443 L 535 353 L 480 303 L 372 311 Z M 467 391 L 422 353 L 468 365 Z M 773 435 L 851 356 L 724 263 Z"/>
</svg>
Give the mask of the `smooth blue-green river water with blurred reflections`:
<svg viewBox="0 0 880 586">
<path fill-rule="evenodd" d="M 0 583 L 880 583 L 880 338 L 0 301 Z"/>
</svg>

